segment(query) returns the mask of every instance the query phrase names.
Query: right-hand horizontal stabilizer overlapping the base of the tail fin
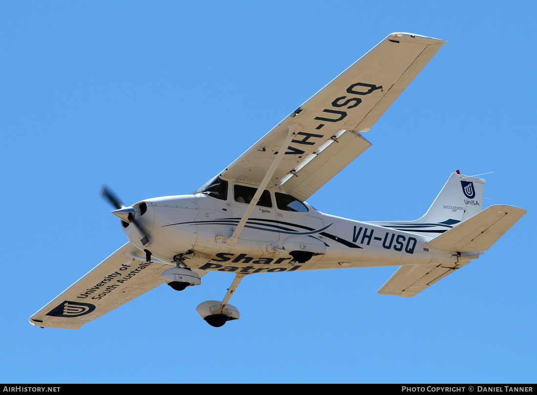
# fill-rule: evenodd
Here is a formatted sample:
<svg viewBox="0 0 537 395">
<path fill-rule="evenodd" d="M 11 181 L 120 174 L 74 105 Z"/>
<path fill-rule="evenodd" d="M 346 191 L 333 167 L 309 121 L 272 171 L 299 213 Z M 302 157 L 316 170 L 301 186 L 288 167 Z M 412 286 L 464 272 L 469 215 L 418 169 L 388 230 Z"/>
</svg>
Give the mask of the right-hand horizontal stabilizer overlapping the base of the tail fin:
<svg viewBox="0 0 537 395">
<path fill-rule="evenodd" d="M 485 251 L 509 230 L 527 210 L 494 205 L 427 242 L 445 251 Z"/>
</svg>

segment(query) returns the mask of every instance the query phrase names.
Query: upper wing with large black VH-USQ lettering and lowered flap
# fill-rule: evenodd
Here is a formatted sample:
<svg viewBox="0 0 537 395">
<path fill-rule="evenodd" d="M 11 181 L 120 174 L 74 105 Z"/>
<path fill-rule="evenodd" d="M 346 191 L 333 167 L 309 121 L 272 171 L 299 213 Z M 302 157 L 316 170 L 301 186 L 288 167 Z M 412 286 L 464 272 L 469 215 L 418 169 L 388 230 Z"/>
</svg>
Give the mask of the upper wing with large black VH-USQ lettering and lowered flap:
<svg viewBox="0 0 537 395">
<path fill-rule="evenodd" d="M 392 33 L 223 170 L 227 181 L 259 185 L 288 131 L 295 137 L 269 186 L 306 200 L 371 143 L 367 132 L 445 43 Z"/>
</svg>

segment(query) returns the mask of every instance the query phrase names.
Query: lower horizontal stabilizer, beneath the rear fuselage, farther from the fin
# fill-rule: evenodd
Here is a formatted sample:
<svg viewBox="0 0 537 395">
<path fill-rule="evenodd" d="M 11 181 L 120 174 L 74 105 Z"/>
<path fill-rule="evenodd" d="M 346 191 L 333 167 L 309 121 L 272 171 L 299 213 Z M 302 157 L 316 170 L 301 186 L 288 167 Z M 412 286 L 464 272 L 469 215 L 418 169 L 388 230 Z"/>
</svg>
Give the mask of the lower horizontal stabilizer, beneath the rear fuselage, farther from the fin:
<svg viewBox="0 0 537 395">
<path fill-rule="evenodd" d="M 403 265 L 382 285 L 380 295 L 410 298 L 429 285 L 460 269 L 469 262 L 442 263 L 438 265 Z"/>
</svg>

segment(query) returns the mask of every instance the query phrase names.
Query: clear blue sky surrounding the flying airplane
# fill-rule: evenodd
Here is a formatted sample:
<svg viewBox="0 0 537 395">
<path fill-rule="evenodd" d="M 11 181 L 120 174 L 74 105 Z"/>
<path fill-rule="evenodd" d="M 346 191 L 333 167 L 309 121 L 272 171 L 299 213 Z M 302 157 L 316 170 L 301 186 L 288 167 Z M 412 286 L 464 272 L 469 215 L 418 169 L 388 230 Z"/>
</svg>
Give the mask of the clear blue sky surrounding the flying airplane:
<svg viewBox="0 0 537 395">
<path fill-rule="evenodd" d="M 413 298 L 394 267 L 160 286 L 80 331 L 28 318 L 125 243 L 98 196 L 190 193 L 391 32 L 448 40 L 308 202 L 411 220 L 448 176 L 535 216 L 530 2 L 3 2 L 1 382 L 535 382 L 535 218 Z M 489 200 L 490 199 L 490 200 Z"/>
</svg>

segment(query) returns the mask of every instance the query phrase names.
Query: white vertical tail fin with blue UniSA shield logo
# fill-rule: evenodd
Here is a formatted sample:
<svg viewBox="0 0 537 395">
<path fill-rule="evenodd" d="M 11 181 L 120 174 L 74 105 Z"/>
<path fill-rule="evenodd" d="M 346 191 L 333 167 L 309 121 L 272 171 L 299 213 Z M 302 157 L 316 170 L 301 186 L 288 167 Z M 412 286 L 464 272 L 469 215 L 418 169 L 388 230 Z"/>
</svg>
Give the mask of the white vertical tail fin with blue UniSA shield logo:
<svg viewBox="0 0 537 395">
<path fill-rule="evenodd" d="M 375 221 L 371 223 L 400 231 L 436 237 L 481 212 L 484 182 L 485 180 L 482 178 L 453 173 L 422 218 L 414 221 Z"/>
</svg>

